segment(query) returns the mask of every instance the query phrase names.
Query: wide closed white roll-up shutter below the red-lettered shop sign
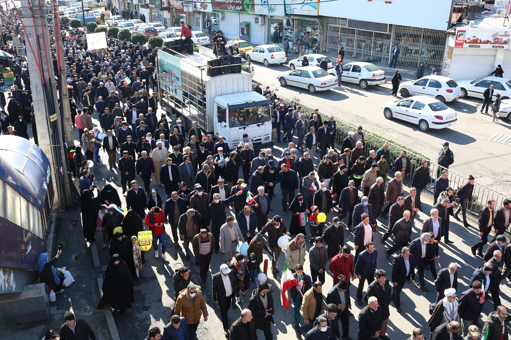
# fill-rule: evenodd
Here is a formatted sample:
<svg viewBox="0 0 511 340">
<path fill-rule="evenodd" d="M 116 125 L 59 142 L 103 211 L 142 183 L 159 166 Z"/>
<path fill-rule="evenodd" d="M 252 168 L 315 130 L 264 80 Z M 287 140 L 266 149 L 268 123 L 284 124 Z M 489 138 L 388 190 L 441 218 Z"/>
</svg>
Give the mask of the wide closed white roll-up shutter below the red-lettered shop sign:
<svg viewBox="0 0 511 340">
<path fill-rule="evenodd" d="M 491 48 L 454 48 L 449 77 L 479 79 L 491 74 L 497 51 Z"/>
</svg>

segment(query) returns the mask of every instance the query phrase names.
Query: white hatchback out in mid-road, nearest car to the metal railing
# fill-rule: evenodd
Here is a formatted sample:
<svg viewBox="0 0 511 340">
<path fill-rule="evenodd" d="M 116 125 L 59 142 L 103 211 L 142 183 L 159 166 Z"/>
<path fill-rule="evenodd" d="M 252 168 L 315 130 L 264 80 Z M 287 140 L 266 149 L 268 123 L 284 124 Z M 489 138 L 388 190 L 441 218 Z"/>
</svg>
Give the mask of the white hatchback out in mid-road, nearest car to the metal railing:
<svg viewBox="0 0 511 340">
<path fill-rule="evenodd" d="M 382 105 L 383 116 L 419 125 L 422 131 L 444 129 L 456 125 L 456 111 L 443 102 L 425 95 L 394 100 Z"/>
</svg>

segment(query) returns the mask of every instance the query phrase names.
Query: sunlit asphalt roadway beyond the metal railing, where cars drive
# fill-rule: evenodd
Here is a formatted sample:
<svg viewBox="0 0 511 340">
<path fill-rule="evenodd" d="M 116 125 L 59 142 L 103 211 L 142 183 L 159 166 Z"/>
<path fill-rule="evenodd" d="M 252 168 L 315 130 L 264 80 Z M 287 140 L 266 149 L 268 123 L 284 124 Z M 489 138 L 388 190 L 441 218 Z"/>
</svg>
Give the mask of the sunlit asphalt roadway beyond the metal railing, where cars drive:
<svg viewBox="0 0 511 340">
<path fill-rule="evenodd" d="M 342 87 L 328 91 L 309 93 L 298 87 L 281 87 L 276 76 L 289 70 L 287 65 L 265 67 L 255 63 L 254 80 L 263 86 L 278 89 L 278 93 L 296 98 L 303 105 L 319 108 L 321 113 L 333 115 L 344 122 L 362 125 L 364 130 L 391 139 L 436 161 L 444 141 L 450 143 L 454 153 L 454 164 L 450 169 L 492 189 L 511 195 L 508 185 L 511 173 L 509 145 L 491 141 L 497 134 L 511 136 L 511 124 L 501 119 L 492 123 L 492 116 L 479 113 L 482 103 L 477 99 L 462 99 L 448 106 L 457 112 L 457 124 L 442 130 L 422 132 L 419 127 L 402 120 L 387 120 L 383 117 L 382 104 L 391 101 L 391 84 L 369 87 L 363 90 L 357 84 L 342 82 Z M 387 72 L 387 82 L 391 74 Z"/>
</svg>

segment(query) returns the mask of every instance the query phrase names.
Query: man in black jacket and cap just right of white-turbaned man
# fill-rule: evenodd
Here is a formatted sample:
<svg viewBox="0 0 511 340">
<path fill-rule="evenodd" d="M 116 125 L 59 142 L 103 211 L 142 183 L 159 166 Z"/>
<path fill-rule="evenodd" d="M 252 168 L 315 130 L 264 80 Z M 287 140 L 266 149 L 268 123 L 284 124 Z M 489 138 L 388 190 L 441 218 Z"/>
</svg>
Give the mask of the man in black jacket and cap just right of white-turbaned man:
<svg viewBox="0 0 511 340">
<path fill-rule="evenodd" d="M 479 323 L 479 317 L 484 306 L 484 300 L 481 299 L 481 288 L 481 282 L 474 281 L 472 288 L 461 293 L 458 303 L 458 315 L 461 319 L 461 330 L 465 336 L 467 336 L 470 325 L 474 324 L 479 328 L 482 327 Z"/>
</svg>

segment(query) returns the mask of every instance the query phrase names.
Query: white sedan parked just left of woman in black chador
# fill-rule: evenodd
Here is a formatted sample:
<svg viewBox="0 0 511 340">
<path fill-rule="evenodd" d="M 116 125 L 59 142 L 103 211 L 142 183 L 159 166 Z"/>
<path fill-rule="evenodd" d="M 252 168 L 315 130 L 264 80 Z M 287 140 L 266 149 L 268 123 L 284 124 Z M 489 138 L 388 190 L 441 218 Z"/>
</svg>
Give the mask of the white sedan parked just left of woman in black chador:
<svg viewBox="0 0 511 340">
<path fill-rule="evenodd" d="M 366 89 L 369 85 L 385 83 L 385 71 L 366 62 L 347 63 L 342 66 L 342 82 L 359 84 Z"/>
</svg>

